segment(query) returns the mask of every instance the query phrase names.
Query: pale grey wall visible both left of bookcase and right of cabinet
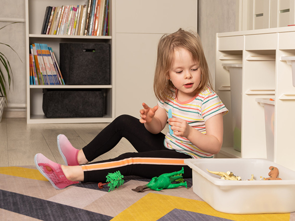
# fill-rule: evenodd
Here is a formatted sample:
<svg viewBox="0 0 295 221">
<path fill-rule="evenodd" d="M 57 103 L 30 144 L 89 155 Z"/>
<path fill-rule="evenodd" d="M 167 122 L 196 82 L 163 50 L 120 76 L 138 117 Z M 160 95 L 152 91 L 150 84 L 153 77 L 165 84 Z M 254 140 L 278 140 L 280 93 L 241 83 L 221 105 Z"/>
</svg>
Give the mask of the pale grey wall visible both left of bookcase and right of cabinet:
<svg viewBox="0 0 295 221">
<path fill-rule="evenodd" d="M 209 69 L 215 82 L 215 34 L 235 31 L 236 0 L 199 0 L 198 29 L 203 41 Z M 25 19 L 25 0 L 0 0 L 0 19 Z M 179 14 L 181 15 L 181 13 Z M 3 21 L 3 20 L 2 20 Z M 0 27 L 7 22 L 1 22 Z M 26 104 L 26 30 L 25 23 L 14 24 L 0 30 L 0 42 L 7 43 L 20 55 L 3 46 L 14 74 L 13 87 L 8 94 L 10 107 L 25 107 Z M 25 116 L 25 115 L 24 115 Z"/>
</svg>

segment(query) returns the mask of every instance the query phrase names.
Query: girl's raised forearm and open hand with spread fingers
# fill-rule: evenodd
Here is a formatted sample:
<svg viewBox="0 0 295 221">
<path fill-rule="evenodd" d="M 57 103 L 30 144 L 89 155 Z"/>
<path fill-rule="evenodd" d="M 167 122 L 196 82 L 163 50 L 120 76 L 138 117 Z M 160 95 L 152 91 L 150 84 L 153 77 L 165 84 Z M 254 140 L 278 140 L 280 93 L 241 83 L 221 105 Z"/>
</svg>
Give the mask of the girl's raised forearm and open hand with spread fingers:
<svg viewBox="0 0 295 221">
<path fill-rule="evenodd" d="M 159 106 L 149 108 L 145 103 L 143 103 L 143 107 L 144 109 L 140 110 L 141 119 L 139 121 L 145 124 L 150 133 L 160 133 L 166 126 L 168 119 L 165 109 Z"/>
</svg>

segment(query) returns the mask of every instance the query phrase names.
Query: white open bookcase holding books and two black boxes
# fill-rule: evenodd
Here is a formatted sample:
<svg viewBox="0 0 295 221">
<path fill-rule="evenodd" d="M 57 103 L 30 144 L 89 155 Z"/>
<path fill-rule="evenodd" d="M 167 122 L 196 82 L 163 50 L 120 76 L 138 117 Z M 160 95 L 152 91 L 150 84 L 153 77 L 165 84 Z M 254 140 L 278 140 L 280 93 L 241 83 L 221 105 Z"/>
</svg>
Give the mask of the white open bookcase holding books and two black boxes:
<svg viewBox="0 0 295 221">
<path fill-rule="evenodd" d="M 110 0 L 110 36 L 45 35 L 40 34 L 47 6 L 86 4 L 87 0 L 26 0 L 26 44 L 27 44 L 27 123 L 108 123 L 115 118 L 116 67 L 115 67 L 115 0 Z M 29 85 L 29 45 L 45 43 L 52 47 L 59 63 L 59 43 L 110 43 L 111 84 L 110 85 Z M 62 73 L 61 73 L 62 74 Z M 46 118 L 42 111 L 43 88 L 102 88 L 106 91 L 106 111 L 103 117 Z"/>
</svg>

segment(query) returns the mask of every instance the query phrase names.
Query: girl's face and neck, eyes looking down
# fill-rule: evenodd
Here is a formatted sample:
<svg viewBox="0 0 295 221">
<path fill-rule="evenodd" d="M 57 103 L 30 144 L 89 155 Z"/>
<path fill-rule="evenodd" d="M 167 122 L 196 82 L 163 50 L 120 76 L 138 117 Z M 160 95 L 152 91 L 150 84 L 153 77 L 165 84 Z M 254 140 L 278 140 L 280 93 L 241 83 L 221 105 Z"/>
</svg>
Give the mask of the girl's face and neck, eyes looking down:
<svg viewBox="0 0 295 221">
<path fill-rule="evenodd" d="M 196 95 L 196 89 L 201 82 L 199 62 L 193 60 L 189 51 L 184 48 L 175 48 L 169 77 L 178 89 L 177 99 L 187 101 Z"/>
</svg>

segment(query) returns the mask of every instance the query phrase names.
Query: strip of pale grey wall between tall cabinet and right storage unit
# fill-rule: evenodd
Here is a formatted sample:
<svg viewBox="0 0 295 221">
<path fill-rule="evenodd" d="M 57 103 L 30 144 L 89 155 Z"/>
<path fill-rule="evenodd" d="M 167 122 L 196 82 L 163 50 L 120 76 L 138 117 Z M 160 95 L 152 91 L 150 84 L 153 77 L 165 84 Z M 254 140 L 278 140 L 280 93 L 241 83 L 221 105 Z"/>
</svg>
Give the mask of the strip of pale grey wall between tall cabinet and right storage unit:
<svg viewBox="0 0 295 221">
<path fill-rule="evenodd" d="M 236 31 L 236 0 L 199 0 L 198 33 L 215 88 L 216 33 Z"/>
</svg>

